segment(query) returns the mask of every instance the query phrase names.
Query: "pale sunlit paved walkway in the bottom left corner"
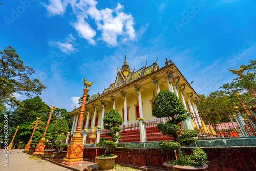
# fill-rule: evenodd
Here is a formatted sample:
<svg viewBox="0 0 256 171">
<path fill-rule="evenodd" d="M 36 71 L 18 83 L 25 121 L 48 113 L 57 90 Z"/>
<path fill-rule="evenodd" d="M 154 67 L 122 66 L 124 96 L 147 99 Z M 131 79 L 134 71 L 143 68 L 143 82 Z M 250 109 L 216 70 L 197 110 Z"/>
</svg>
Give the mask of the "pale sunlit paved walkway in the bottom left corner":
<svg viewBox="0 0 256 171">
<path fill-rule="evenodd" d="M 10 153 L 11 152 L 11 153 Z M 8 167 L 5 167 L 4 150 L 0 149 L 0 170 L 1 171 L 64 171 L 70 170 L 45 160 L 36 160 L 32 155 L 23 153 L 22 150 L 8 151 Z M 31 157 L 30 157 L 31 156 Z"/>
</svg>

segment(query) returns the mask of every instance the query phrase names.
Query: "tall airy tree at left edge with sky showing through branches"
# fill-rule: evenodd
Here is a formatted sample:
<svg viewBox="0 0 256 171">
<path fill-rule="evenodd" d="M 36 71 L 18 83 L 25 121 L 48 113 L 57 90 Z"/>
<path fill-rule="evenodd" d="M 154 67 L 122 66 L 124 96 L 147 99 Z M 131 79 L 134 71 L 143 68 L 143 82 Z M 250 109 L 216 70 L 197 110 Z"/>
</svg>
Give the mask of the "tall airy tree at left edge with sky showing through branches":
<svg viewBox="0 0 256 171">
<path fill-rule="evenodd" d="M 40 95 L 46 88 L 39 79 L 31 80 L 29 75 L 35 71 L 24 66 L 16 50 L 8 46 L 3 52 L 0 51 L 0 106 L 7 110 L 6 105 L 19 105 L 19 101 L 13 96 L 14 94 Z"/>
</svg>

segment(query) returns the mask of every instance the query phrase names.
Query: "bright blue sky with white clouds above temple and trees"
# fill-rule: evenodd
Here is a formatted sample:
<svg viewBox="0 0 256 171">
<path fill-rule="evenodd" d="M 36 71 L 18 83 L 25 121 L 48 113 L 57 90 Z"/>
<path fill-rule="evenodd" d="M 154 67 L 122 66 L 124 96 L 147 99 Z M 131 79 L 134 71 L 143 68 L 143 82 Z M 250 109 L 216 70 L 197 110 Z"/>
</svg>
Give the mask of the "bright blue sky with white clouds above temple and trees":
<svg viewBox="0 0 256 171">
<path fill-rule="evenodd" d="M 208 94 L 255 59 L 256 2 L 0 1 L 0 51 L 12 46 L 47 87 L 41 98 L 71 111 L 83 94 L 102 93 L 124 61 L 136 69 L 172 59 L 198 94 Z M 15 95 L 19 99 L 26 97 Z"/>
</svg>

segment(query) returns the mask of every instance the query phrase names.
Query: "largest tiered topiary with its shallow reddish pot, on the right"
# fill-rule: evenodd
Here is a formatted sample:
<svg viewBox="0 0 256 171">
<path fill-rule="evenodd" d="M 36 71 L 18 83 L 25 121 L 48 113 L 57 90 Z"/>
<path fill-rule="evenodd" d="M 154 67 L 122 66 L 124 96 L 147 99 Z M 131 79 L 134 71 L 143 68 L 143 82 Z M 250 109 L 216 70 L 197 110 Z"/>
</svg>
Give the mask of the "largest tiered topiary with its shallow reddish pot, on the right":
<svg viewBox="0 0 256 171">
<path fill-rule="evenodd" d="M 162 131 L 162 134 L 168 135 L 174 141 L 162 141 L 159 146 L 163 149 L 176 151 L 175 161 L 165 162 L 163 165 L 168 170 L 205 170 L 208 165 L 205 164 L 207 154 L 200 148 L 193 149 L 193 154 L 186 155 L 182 153 L 181 147 L 187 147 L 191 143 L 197 142 L 195 137 L 198 136 L 195 130 L 180 131 L 180 122 L 187 119 L 189 115 L 185 114 L 186 109 L 178 97 L 166 90 L 160 91 L 153 102 L 152 115 L 157 118 L 167 118 L 166 123 L 157 125 L 157 129 Z"/>
</svg>

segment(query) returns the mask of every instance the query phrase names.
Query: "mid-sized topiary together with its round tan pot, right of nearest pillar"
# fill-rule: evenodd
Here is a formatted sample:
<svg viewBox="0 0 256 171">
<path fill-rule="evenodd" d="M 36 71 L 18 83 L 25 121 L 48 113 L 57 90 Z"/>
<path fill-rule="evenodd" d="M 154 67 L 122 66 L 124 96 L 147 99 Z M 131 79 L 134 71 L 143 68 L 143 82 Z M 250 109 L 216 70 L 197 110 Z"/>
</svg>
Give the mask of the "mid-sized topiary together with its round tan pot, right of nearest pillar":
<svg viewBox="0 0 256 171">
<path fill-rule="evenodd" d="M 106 135 L 110 136 L 111 139 L 100 139 L 100 142 L 97 143 L 97 147 L 105 148 L 105 153 L 102 156 L 97 156 L 95 159 L 99 169 L 108 170 L 113 167 L 117 158 L 117 155 L 111 154 L 111 151 L 116 148 L 115 142 L 117 139 L 121 138 L 121 135 L 118 135 L 118 132 L 122 130 L 120 125 L 122 125 L 123 119 L 117 110 L 111 109 L 108 113 L 106 113 L 103 121 L 105 122 L 104 129 L 109 130 Z"/>
</svg>

